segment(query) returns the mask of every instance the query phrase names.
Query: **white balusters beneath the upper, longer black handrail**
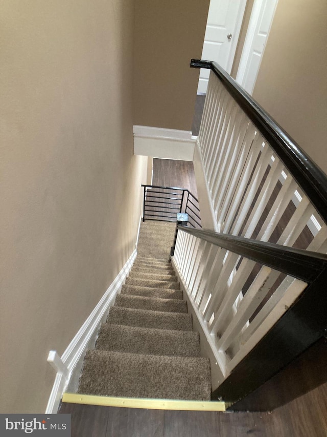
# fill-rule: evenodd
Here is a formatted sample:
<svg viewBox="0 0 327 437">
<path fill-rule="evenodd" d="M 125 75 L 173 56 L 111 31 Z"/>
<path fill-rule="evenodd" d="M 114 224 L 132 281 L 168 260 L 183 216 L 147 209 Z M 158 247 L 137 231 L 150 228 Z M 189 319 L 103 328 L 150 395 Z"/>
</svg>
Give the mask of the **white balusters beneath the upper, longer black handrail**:
<svg viewBox="0 0 327 437">
<path fill-rule="evenodd" d="M 324 220 L 213 71 L 198 145 L 219 232 L 326 253 Z"/>
</svg>

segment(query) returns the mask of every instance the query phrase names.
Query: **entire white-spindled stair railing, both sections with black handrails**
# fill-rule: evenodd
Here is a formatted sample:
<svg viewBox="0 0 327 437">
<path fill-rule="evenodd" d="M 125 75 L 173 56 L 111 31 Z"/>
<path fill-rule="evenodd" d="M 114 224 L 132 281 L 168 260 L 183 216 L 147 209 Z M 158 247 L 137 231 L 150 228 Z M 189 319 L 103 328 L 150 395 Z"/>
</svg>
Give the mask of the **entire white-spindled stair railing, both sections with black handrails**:
<svg viewBox="0 0 327 437">
<path fill-rule="evenodd" d="M 223 374 L 214 396 L 235 400 L 324 335 L 327 177 L 218 65 L 191 67 L 212 70 L 197 143 L 218 233 L 178 226 L 172 261 Z"/>
</svg>

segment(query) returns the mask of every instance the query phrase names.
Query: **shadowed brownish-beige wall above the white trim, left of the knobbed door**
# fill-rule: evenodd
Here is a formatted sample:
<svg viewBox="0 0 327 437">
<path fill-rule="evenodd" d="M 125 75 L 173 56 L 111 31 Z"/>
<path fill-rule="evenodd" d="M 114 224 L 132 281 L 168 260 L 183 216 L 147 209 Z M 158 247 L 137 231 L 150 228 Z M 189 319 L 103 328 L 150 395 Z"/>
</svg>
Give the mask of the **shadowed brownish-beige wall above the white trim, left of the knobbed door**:
<svg viewBox="0 0 327 437">
<path fill-rule="evenodd" d="M 191 130 L 209 0 L 135 3 L 135 124 Z"/>
</svg>

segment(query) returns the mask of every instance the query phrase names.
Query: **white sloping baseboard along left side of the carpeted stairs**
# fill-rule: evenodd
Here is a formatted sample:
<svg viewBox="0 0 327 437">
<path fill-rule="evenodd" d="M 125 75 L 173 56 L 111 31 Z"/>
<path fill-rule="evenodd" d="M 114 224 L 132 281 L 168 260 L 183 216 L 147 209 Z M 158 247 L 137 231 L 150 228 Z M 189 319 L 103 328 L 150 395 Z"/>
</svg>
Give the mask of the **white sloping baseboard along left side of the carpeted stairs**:
<svg viewBox="0 0 327 437">
<path fill-rule="evenodd" d="M 116 276 L 105 294 L 102 296 L 97 306 L 94 308 L 94 310 L 92 310 L 91 314 L 83 323 L 76 336 L 73 338 L 71 343 L 69 343 L 61 358 L 58 357 L 55 351 L 50 351 L 49 361 L 51 362 L 52 366 L 56 368 L 57 374 L 45 413 L 52 414 L 58 411 L 62 394 L 69 382 L 69 379 L 71 378 L 74 367 L 83 355 L 88 341 L 98 330 L 106 311 L 114 302 L 117 293 L 119 292 L 127 275 L 130 272 L 135 257 L 136 249 L 134 249 L 132 255 L 129 257 L 120 273 Z"/>
</svg>

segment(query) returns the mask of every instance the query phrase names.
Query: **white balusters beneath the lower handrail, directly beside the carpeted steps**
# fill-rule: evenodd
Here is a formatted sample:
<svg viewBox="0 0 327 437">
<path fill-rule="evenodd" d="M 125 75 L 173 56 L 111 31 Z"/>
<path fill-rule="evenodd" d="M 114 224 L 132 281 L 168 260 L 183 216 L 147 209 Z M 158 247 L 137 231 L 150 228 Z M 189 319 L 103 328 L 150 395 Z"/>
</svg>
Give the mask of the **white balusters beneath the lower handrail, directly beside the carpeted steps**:
<svg viewBox="0 0 327 437">
<path fill-rule="evenodd" d="M 187 228 L 178 232 L 173 264 L 227 378 L 308 281 L 260 263 L 255 255 L 247 258 L 189 232 Z M 303 268 L 300 275 L 305 279 L 308 273 Z"/>
</svg>

